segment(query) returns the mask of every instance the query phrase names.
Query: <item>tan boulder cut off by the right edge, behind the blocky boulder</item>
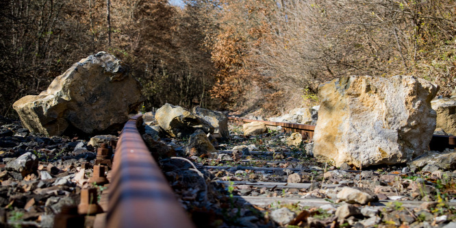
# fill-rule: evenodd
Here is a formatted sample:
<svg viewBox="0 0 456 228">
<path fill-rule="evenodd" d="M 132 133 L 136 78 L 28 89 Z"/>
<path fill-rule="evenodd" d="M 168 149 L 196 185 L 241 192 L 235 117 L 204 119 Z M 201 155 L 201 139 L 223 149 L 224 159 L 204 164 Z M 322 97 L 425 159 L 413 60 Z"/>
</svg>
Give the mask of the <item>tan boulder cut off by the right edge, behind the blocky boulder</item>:
<svg viewBox="0 0 456 228">
<path fill-rule="evenodd" d="M 431 105 L 437 112 L 437 127 L 456 135 L 456 98 L 435 99 Z"/>
</svg>

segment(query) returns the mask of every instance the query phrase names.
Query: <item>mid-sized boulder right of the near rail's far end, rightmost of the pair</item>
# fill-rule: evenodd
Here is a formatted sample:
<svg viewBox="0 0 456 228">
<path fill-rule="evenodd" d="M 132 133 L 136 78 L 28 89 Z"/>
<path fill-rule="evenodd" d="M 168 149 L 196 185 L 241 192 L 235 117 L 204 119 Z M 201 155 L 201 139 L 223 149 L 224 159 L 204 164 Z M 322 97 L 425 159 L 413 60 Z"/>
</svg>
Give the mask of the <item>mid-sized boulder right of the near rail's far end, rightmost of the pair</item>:
<svg viewBox="0 0 456 228">
<path fill-rule="evenodd" d="M 192 110 L 195 116 L 202 118 L 207 123 L 210 123 L 214 127 L 214 136 L 215 138 L 228 138 L 228 118 L 222 112 L 206 110 L 202 107 L 196 106 Z"/>
</svg>

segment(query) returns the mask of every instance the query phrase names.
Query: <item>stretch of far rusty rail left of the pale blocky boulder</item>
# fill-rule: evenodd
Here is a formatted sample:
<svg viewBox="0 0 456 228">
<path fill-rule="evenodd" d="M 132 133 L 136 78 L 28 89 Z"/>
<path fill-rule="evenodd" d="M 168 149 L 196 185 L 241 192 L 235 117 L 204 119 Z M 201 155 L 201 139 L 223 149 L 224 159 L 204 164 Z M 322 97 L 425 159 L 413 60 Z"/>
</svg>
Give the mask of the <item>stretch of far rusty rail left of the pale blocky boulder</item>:
<svg viewBox="0 0 456 228">
<path fill-rule="evenodd" d="M 275 121 L 257 121 L 257 120 L 250 120 L 248 118 L 240 118 L 240 117 L 233 117 L 229 116 L 228 119 L 230 121 L 237 121 L 242 123 L 251 123 L 251 122 L 261 122 L 268 126 L 281 126 L 282 129 L 286 132 L 299 132 L 304 139 L 312 139 L 314 138 L 314 131 L 315 125 L 303 125 L 301 123 L 283 123 L 283 122 L 275 122 Z"/>
</svg>

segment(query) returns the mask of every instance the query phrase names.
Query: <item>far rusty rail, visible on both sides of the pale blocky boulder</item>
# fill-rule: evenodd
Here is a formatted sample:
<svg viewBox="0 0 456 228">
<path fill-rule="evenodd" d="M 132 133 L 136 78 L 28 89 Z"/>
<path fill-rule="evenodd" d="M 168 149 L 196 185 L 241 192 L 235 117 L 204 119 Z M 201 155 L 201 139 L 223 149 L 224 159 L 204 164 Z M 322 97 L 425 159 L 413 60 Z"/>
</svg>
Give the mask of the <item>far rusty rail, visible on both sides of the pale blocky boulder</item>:
<svg viewBox="0 0 456 228">
<path fill-rule="evenodd" d="M 305 139 L 314 138 L 315 125 L 303 125 L 300 123 L 283 123 L 274 121 L 257 121 L 248 118 L 240 118 L 229 116 L 230 121 L 237 121 L 242 123 L 261 122 L 268 126 L 281 126 L 286 132 L 299 132 Z M 433 135 L 431 142 L 429 143 L 430 151 L 444 151 L 446 148 L 456 148 L 456 136 L 439 136 Z"/>
</svg>

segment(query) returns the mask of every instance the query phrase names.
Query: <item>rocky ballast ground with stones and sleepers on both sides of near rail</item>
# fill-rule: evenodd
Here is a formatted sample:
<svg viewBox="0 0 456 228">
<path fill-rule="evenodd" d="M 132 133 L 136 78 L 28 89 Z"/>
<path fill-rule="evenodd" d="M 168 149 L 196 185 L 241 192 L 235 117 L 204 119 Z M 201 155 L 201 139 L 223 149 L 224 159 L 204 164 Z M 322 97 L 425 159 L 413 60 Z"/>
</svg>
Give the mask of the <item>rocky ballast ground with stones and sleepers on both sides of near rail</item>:
<svg viewBox="0 0 456 228">
<path fill-rule="evenodd" d="M 81 188 L 104 190 L 88 183 L 99 144 L 0 122 L 0 206 L 11 226 L 52 227 L 62 207 L 79 203 Z M 187 139 L 162 138 L 184 158 L 160 164 L 197 227 L 456 227 L 455 151 L 355 170 L 316 162 L 311 147 L 288 146 L 280 131 L 229 131 L 210 156 L 186 157 Z"/>
</svg>

